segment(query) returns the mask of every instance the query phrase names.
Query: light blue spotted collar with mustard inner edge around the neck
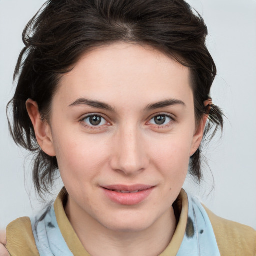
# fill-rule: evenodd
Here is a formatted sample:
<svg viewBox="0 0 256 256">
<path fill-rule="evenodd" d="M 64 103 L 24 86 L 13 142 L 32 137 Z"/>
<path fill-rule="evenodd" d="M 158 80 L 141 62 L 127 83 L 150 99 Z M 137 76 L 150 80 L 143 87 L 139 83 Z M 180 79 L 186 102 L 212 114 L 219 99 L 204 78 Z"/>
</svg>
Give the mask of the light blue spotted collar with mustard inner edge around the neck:
<svg viewBox="0 0 256 256">
<path fill-rule="evenodd" d="M 46 212 L 31 218 L 41 256 L 90 256 L 66 216 L 67 196 L 63 188 Z M 159 256 L 220 256 L 212 225 L 201 203 L 182 189 L 173 207 L 176 214 L 180 212 L 178 224 L 169 245 Z"/>
</svg>

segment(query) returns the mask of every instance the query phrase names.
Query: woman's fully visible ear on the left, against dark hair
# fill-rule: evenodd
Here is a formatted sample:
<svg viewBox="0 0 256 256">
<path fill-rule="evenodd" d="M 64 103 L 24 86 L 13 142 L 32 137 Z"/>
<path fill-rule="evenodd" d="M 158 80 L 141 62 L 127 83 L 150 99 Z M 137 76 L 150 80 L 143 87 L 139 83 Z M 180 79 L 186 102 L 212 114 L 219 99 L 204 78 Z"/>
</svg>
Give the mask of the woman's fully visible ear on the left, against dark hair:
<svg viewBox="0 0 256 256">
<path fill-rule="evenodd" d="M 26 110 L 33 124 L 35 137 L 39 146 L 44 153 L 55 156 L 50 125 L 46 120 L 42 119 L 37 103 L 30 98 L 27 99 Z"/>
</svg>

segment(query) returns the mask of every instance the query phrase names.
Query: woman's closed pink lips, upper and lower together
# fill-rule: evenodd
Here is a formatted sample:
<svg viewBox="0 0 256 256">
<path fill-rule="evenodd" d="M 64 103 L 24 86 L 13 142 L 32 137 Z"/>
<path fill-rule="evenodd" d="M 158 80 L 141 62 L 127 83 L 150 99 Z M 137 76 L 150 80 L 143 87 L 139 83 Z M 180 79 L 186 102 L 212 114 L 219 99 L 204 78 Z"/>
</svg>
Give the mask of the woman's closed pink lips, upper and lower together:
<svg viewBox="0 0 256 256">
<path fill-rule="evenodd" d="M 101 186 L 104 194 L 113 202 L 122 205 L 135 205 L 144 201 L 155 186 L 145 184 Z M 116 191 L 117 190 L 117 191 Z M 121 191 L 126 191 L 121 192 Z"/>
</svg>

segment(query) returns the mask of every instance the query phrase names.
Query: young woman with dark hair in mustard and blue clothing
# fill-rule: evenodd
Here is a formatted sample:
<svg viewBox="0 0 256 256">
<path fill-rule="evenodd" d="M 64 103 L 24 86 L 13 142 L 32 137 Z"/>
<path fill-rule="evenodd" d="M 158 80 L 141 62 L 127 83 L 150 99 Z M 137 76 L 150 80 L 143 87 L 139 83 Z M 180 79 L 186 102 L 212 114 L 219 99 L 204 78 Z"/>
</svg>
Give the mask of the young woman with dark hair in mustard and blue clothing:
<svg viewBox="0 0 256 256">
<path fill-rule="evenodd" d="M 206 34 L 183 1 L 51 0 L 30 21 L 12 136 L 36 152 L 39 194 L 58 170 L 65 188 L 7 227 L 11 255 L 255 253 L 253 229 L 181 190 L 223 122 Z"/>
</svg>

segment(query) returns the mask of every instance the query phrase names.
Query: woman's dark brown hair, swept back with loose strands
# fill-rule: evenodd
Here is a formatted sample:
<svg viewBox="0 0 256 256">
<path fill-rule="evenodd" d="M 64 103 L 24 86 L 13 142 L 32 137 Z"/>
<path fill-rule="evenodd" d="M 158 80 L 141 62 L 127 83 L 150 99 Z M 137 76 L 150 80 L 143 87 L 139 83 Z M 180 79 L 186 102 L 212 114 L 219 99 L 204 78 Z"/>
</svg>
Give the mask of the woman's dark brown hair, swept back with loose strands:
<svg viewBox="0 0 256 256">
<path fill-rule="evenodd" d="M 214 61 L 205 46 L 207 27 L 183 0 L 49 0 L 23 31 L 25 47 L 14 72 L 17 87 L 12 100 L 14 141 L 34 152 L 33 180 L 42 195 L 58 171 L 56 157 L 37 144 L 26 111 L 28 98 L 37 102 L 47 120 L 51 99 L 61 74 L 70 71 L 92 47 L 125 41 L 150 45 L 191 70 L 195 120 L 209 114 L 205 131 L 223 125 L 220 109 L 204 106 L 216 75 Z M 7 106 L 7 108 L 8 108 Z M 214 134 L 214 132 L 213 132 Z M 190 158 L 189 171 L 201 179 L 200 148 Z"/>
</svg>

